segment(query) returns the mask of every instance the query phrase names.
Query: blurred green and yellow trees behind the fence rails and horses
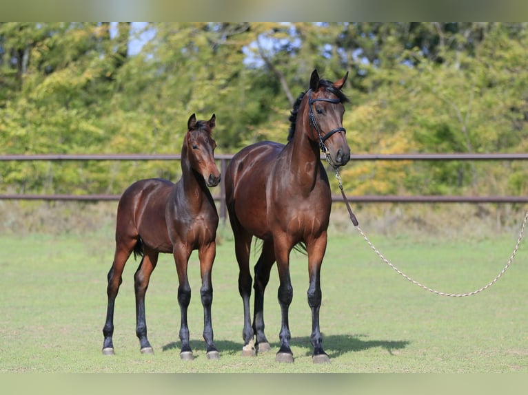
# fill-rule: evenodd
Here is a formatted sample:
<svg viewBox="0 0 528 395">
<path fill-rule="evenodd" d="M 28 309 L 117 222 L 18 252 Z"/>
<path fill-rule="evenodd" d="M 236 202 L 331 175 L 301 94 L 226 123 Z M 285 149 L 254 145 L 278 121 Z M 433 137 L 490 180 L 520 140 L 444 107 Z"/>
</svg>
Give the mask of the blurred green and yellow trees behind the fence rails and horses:
<svg viewBox="0 0 528 395">
<path fill-rule="evenodd" d="M 317 68 L 348 70 L 352 153 L 528 150 L 527 23 L 0 23 L 0 155 L 217 153 L 286 142 Z M 121 193 L 169 162 L 0 162 L 3 191 Z M 350 162 L 348 193 L 526 194 L 525 164 Z"/>
</svg>

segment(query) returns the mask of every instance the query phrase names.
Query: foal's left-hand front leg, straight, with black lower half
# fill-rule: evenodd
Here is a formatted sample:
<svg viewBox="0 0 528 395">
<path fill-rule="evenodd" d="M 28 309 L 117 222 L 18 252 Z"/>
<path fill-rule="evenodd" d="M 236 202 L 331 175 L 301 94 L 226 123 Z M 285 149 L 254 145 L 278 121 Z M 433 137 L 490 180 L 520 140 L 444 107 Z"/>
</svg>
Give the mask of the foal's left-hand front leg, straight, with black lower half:
<svg viewBox="0 0 528 395">
<path fill-rule="evenodd" d="M 189 278 L 187 277 L 187 264 L 191 255 L 191 249 L 183 244 L 174 245 L 173 255 L 176 263 L 176 271 L 178 272 L 178 304 L 180 306 L 181 324 L 180 324 L 180 340 L 181 350 L 180 358 L 185 360 L 192 360 L 192 350 L 189 341 L 189 326 L 187 325 L 187 308 L 191 301 L 191 286 Z"/>
</svg>

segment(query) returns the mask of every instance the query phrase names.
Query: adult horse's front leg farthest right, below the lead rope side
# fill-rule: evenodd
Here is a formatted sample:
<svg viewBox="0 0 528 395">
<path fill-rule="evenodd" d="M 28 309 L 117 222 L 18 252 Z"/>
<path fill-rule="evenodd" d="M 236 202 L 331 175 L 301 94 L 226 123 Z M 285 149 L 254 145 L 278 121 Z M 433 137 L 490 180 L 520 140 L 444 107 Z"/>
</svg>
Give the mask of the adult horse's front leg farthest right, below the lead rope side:
<svg viewBox="0 0 528 395">
<path fill-rule="evenodd" d="M 307 245 L 308 253 L 308 305 L 312 309 L 312 334 L 310 341 L 314 346 L 312 361 L 314 363 L 329 362 L 330 359 L 323 350 L 321 330 L 319 328 L 319 308 L 321 308 L 321 264 L 325 255 L 327 234 L 324 233 L 314 242 Z"/>
</svg>

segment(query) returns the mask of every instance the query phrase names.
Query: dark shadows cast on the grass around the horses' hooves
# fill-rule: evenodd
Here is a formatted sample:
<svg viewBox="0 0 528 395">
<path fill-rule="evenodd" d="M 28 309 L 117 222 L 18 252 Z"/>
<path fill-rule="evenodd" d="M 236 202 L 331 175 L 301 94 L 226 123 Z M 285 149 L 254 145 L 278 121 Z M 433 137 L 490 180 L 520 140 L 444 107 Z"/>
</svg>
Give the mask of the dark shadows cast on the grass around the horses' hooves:
<svg viewBox="0 0 528 395">
<path fill-rule="evenodd" d="M 369 350 L 371 348 L 382 348 L 387 350 L 389 354 L 393 354 L 393 350 L 401 350 L 405 348 L 409 341 L 406 340 L 364 340 L 367 335 L 364 334 L 334 334 L 325 336 L 323 334 L 323 348 L 327 352 L 330 358 L 336 358 L 347 352 L 358 352 L 363 350 Z M 238 354 L 242 350 L 242 342 L 228 341 L 228 340 L 216 340 L 214 341 L 216 348 L 219 352 L 227 352 L 229 354 Z M 204 341 L 191 341 L 192 350 L 200 350 L 205 352 Z M 278 351 L 279 342 L 270 343 L 272 350 Z M 290 345 L 306 348 L 306 355 L 312 355 L 312 344 L 309 341 L 309 337 L 293 337 L 290 341 Z M 163 351 L 179 350 L 180 342 L 173 341 L 163 346 Z"/>
</svg>

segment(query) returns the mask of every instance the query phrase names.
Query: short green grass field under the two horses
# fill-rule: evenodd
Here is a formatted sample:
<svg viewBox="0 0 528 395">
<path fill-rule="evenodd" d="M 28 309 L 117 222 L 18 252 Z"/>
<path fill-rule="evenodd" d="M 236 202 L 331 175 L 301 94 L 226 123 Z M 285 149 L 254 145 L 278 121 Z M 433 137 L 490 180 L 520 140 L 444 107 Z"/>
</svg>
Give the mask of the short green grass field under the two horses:
<svg viewBox="0 0 528 395">
<path fill-rule="evenodd" d="M 487 284 L 505 266 L 514 232 L 476 239 L 369 234 L 382 253 L 417 281 L 452 293 Z M 242 302 L 238 267 L 227 228 L 213 270 L 213 325 L 219 361 L 205 358 L 199 266 L 190 261 L 189 310 L 194 361 L 179 358 L 179 307 L 174 262 L 163 255 L 146 299 L 154 355 L 139 353 L 128 261 L 116 301 L 115 356 L 103 356 L 106 274 L 113 230 L 97 233 L 0 235 L 0 372 L 528 372 L 526 298 L 528 241 L 491 288 L 466 298 L 426 292 L 400 277 L 369 249 L 354 228 L 329 237 L 322 270 L 323 345 L 332 363 L 312 364 L 307 264 L 292 255 L 294 300 L 290 330 L 295 362 L 274 361 L 280 310 L 276 270 L 267 288 L 265 321 L 274 350 L 240 355 Z M 253 257 L 255 258 L 255 257 Z"/>
</svg>

